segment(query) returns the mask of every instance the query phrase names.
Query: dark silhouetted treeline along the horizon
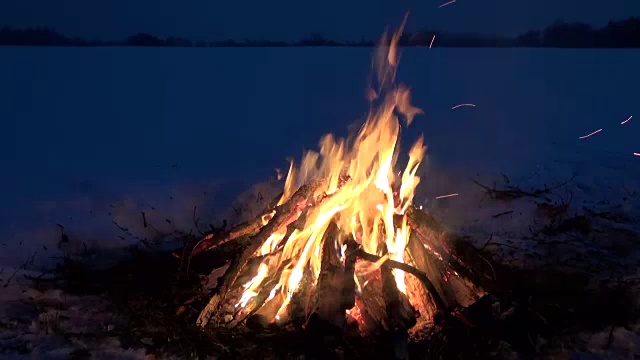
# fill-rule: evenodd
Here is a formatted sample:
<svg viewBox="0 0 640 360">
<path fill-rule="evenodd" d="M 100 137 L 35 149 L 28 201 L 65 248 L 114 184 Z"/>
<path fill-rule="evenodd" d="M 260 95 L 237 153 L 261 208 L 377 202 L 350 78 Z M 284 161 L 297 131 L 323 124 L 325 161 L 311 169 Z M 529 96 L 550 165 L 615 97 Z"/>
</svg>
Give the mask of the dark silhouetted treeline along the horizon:
<svg viewBox="0 0 640 360">
<path fill-rule="evenodd" d="M 558 47 L 558 48 L 640 48 L 640 18 L 591 25 L 556 21 L 543 30 L 532 30 L 517 37 L 480 34 L 452 34 L 423 30 L 404 34 L 401 46 L 429 46 L 434 34 L 438 47 Z M 0 45 L 14 46 L 156 46 L 156 47 L 277 47 L 277 46 L 373 46 L 374 41 L 338 42 L 321 34 L 311 34 L 296 42 L 268 40 L 196 41 L 178 37 L 161 38 L 138 33 L 122 41 L 87 41 L 69 38 L 50 28 L 0 28 Z"/>
</svg>

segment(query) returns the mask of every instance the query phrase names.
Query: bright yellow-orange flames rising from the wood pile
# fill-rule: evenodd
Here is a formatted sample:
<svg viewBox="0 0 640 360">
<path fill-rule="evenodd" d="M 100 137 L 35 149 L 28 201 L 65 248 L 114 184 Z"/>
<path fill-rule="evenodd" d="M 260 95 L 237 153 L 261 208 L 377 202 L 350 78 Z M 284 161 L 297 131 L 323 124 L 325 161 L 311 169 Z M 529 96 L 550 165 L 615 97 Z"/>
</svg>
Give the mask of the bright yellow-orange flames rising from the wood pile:
<svg viewBox="0 0 640 360">
<path fill-rule="evenodd" d="M 289 167 L 284 192 L 279 204 L 286 203 L 302 185 L 314 179 L 325 179 L 323 193 L 326 198 L 317 206 L 309 207 L 304 225 L 287 236 L 283 226 L 271 234 L 256 256 L 266 256 L 258 272 L 247 284 L 236 307 L 244 307 L 256 296 L 267 279 L 277 279 L 267 301 L 284 296 L 275 319 L 285 314 L 292 296 L 300 286 L 305 272 L 316 284 L 320 274 L 323 241 L 335 241 L 336 253 L 344 261 L 345 241 L 353 239 L 364 251 L 382 257 L 379 263 L 368 269 L 356 270 L 358 289 L 365 286 L 357 277 L 377 269 L 387 259 L 404 262 L 405 248 L 409 240 L 409 227 L 404 216 L 412 204 L 415 190 L 420 183 L 416 175 L 425 153 L 422 137 L 411 147 L 404 170 L 397 172 L 401 121 L 407 125 L 422 111 L 410 103 L 409 89 L 394 85 L 398 66 L 398 41 L 402 28 L 390 40 L 382 39 L 374 67 L 377 70 L 378 88 L 370 89 L 373 105 L 359 132 L 347 139 L 325 135 L 319 151 L 304 154 L 301 163 Z M 300 215 L 300 214 L 299 214 Z M 263 218 L 266 224 L 274 213 Z M 401 221 L 398 221 L 401 218 Z M 324 239 L 331 223 L 337 225 L 339 235 Z M 277 254 L 270 256 L 276 250 Z M 279 265 L 288 265 L 278 271 Z M 399 291 L 406 293 L 405 274 L 393 270 Z M 279 277 L 279 278 L 278 278 Z"/>
</svg>

